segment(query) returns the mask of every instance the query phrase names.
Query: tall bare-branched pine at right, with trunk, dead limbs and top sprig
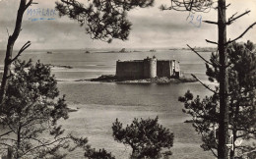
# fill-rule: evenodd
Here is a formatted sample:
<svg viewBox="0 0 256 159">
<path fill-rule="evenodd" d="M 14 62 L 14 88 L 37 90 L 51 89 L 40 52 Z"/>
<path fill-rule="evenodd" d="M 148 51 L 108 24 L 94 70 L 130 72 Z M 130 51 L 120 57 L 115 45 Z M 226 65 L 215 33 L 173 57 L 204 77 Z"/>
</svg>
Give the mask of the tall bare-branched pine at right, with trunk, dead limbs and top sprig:
<svg viewBox="0 0 256 159">
<path fill-rule="evenodd" d="M 230 144 L 229 142 L 229 136 L 228 136 L 228 127 L 229 127 L 229 92 L 228 92 L 228 61 L 227 61 L 227 46 L 228 44 L 231 44 L 232 42 L 236 41 L 237 39 L 241 38 L 250 28 L 254 27 L 256 23 L 253 23 L 251 26 L 247 27 L 238 37 L 234 39 L 226 40 L 226 27 L 233 24 L 236 20 L 243 17 L 244 15 L 247 15 L 250 13 L 250 11 L 245 11 L 244 13 L 240 15 L 236 15 L 237 13 L 233 14 L 231 17 L 229 17 L 226 20 L 226 9 L 230 4 L 226 4 L 225 0 L 218 0 L 217 2 L 213 0 L 170 0 L 171 6 L 161 6 L 160 9 L 162 10 L 176 10 L 176 11 L 189 11 L 192 13 L 195 12 L 203 12 L 207 13 L 211 9 L 216 9 L 218 11 L 218 22 L 213 21 L 203 21 L 204 23 L 210 24 L 210 25 L 216 25 L 218 27 L 218 42 L 208 40 L 206 41 L 211 44 L 215 44 L 218 47 L 217 53 L 219 56 L 219 61 L 211 61 L 204 59 L 195 49 L 187 45 L 194 53 L 199 55 L 207 64 L 212 65 L 213 67 L 218 66 L 219 70 L 219 89 L 213 90 L 211 89 L 207 84 L 203 83 L 200 79 L 197 79 L 195 76 L 193 76 L 195 79 L 200 81 L 206 88 L 213 91 L 214 93 L 219 93 L 219 102 L 220 102 L 220 115 L 219 115 L 219 142 L 218 142 L 218 158 L 224 158 L 227 159 L 229 156 L 229 149 L 227 145 Z M 215 7 L 215 3 L 218 3 L 218 5 Z M 190 95 L 189 95 L 190 96 Z M 214 98 L 215 100 L 216 98 Z M 210 99 L 211 100 L 211 99 Z"/>
</svg>

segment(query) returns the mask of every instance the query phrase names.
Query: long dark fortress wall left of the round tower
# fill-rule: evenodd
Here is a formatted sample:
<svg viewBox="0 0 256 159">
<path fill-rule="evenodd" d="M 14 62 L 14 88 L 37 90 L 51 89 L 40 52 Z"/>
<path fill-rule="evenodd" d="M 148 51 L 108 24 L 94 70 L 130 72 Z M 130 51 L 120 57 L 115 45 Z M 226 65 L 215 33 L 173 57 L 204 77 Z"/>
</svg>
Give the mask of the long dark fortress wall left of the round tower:
<svg viewBox="0 0 256 159">
<path fill-rule="evenodd" d="M 143 79 L 143 61 L 117 61 L 116 77 L 118 79 Z"/>
</svg>

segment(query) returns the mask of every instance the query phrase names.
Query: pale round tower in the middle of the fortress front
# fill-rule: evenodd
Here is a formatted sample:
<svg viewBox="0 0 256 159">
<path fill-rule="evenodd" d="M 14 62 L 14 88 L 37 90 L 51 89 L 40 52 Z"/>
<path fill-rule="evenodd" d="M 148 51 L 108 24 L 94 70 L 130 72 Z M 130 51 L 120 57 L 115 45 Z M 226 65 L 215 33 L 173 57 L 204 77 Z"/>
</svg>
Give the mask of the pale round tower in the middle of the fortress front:
<svg viewBox="0 0 256 159">
<path fill-rule="evenodd" d="M 144 78 L 156 78 L 157 77 L 157 59 L 144 59 Z"/>
</svg>

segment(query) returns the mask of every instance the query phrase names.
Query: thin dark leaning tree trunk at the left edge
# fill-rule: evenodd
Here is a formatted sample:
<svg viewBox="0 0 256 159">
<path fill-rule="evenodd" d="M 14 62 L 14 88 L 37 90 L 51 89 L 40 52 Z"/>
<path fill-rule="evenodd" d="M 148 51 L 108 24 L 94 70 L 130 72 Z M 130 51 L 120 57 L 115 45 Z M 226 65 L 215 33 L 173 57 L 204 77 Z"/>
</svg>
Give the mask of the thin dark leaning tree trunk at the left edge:
<svg viewBox="0 0 256 159">
<path fill-rule="evenodd" d="M 3 79 L 2 79 L 1 88 L 0 88 L 0 110 L 2 109 L 1 105 L 6 94 L 6 89 L 8 86 L 8 78 L 10 77 L 14 43 L 17 40 L 22 28 L 24 12 L 31 5 L 32 2 L 30 1 L 28 5 L 26 5 L 26 3 L 27 3 L 27 0 L 21 0 L 14 32 L 8 38 L 8 44 L 7 44 L 6 55 L 5 55 L 4 74 L 3 74 Z"/>
</svg>

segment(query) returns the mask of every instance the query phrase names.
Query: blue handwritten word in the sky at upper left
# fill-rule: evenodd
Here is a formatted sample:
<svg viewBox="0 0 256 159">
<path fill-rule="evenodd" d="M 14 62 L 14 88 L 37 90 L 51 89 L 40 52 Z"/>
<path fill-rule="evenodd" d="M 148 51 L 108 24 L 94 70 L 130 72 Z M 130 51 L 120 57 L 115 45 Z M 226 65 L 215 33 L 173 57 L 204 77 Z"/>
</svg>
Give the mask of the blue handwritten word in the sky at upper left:
<svg viewBox="0 0 256 159">
<path fill-rule="evenodd" d="M 55 20 L 56 12 L 54 9 L 49 8 L 36 8 L 28 9 L 27 16 L 29 20 L 34 21 L 44 21 L 44 20 Z"/>
</svg>

